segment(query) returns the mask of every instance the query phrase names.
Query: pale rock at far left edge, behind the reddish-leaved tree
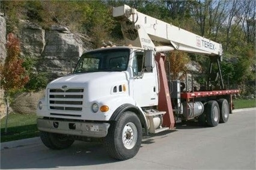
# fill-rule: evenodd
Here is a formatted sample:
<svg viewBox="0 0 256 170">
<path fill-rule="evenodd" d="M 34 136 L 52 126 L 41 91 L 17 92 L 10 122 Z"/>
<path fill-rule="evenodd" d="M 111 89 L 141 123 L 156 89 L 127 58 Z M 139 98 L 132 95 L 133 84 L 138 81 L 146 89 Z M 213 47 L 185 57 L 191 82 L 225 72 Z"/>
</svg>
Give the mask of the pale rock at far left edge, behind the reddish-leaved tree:
<svg viewBox="0 0 256 170">
<path fill-rule="evenodd" d="M 0 16 L 0 64 L 4 64 L 6 58 L 6 24 L 4 17 Z M 0 88 L 0 118 L 6 115 L 6 105 L 4 102 L 4 90 Z"/>
</svg>

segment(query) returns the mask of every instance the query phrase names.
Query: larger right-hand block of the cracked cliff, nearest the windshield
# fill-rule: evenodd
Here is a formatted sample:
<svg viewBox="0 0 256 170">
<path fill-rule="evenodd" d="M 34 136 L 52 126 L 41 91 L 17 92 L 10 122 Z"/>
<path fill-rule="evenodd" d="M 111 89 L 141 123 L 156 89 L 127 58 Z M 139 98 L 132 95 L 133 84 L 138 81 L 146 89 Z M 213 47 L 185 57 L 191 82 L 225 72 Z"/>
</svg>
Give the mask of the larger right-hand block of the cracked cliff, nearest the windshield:
<svg viewBox="0 0 256 170">
<path fill-rule="evenodd" d="M 46 31 L 45 41 L 40 70 L 51 74 L 53 79 L 70 73 L 79 56 L 88 50 L 81 35 L 70 32 L 64 26 L 52 26 Z"/>
</svg>

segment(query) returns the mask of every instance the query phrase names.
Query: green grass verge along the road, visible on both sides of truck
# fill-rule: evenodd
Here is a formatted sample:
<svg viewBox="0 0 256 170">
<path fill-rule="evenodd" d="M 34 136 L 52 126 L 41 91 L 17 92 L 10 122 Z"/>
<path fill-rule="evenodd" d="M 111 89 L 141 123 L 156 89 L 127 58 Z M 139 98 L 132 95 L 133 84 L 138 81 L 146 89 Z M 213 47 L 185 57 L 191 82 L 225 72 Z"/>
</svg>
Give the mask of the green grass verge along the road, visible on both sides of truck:
<svg viewBox="0 0 256 170">
<path fill-rule="evenodd" d="M 255 100 L 235 99 L 235 109 L 256 108 Z M 19 139 L 33 138 L 39 135 L 36 125 L 37 116 L 10 114 L 8 115 L 7 134 L 4 133 L 5 118 L 1 120 L 1 142 L 14 141 Z"/>
</svg>

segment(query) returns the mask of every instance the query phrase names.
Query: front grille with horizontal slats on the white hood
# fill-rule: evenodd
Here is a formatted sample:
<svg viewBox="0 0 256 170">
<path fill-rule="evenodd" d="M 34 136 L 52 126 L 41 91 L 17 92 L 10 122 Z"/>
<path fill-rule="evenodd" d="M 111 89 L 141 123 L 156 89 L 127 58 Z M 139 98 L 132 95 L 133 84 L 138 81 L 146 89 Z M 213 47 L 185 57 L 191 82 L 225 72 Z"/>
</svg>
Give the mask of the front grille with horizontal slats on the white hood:
<svg viewBox="0 0 256 170">
<path fill-rule="evenodd" d="M 49 109 L 53 111 L 82 111 L 84 89 L 50 89 Z"/>
</svg>

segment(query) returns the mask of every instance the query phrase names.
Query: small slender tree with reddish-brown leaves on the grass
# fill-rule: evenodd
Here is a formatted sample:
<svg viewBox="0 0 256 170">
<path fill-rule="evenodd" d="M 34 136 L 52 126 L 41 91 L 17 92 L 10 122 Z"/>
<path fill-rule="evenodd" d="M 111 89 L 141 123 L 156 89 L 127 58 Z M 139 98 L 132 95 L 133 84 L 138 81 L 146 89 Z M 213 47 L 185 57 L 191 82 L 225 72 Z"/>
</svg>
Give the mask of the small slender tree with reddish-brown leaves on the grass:
<svg viewBox="0 0 256 170">
<path fill-rule="evenodd" d="M 0 65 L 1 88 L 5 91 L 5 101 L 7 104 L 5 133 L 7 133 L 10 93 L 23 88 L 29 80 L 25 68 L 22 67 L 23 60 L 19 58 L 19 55 L 19 40 L 13 33 L 10 33 L 7 35 L 7 57 L 4 65 Z"/>
</svg>

